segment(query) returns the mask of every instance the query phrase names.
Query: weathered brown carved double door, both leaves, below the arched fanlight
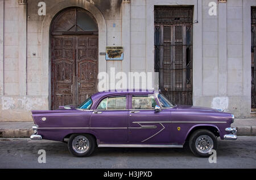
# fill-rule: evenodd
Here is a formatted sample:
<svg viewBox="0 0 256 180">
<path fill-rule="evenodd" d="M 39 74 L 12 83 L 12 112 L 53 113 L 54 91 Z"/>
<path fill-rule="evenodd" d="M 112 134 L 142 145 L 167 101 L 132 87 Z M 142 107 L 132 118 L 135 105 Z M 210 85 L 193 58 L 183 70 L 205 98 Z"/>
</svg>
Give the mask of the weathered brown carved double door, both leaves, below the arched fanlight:
<svg viewBox="0 0 256 180">
<path fill-rule="evenodd" d="M 80 104 L 97 91 L 98 36 L 51 36 L 51 108 Z"/>
</svg>

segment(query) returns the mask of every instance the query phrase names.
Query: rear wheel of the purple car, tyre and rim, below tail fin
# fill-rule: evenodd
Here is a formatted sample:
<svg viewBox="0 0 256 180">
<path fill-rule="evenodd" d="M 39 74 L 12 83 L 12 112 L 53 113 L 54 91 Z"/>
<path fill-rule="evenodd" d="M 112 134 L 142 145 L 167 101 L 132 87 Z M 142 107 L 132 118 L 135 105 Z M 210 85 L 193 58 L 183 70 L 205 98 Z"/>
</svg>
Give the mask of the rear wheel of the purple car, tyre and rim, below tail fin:
<svg viewBox="0 0 256 180">
<path fill-rule="evenodd" d="M 96 141 L 92 135 L 74 134 L 69 137 L 68 150 L 78 157 L 90 156 L 96 147 Z"/>
</svg>

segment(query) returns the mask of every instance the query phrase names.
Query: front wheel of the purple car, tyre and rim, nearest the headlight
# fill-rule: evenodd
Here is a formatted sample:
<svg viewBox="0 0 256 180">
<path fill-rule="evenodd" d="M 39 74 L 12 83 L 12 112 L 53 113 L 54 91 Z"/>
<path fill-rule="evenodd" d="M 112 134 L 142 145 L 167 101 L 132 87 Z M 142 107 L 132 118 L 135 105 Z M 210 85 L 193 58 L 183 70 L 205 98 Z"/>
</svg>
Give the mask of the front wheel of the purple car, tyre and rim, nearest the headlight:
<svg viewBox="0 0 256 180">
<path fill-rule="evenodd" d="M 199 129 L 189 138 L 189 148 L 198 157 L 209 157 L 217 149 L 217 138 L 209 130 Z"/>
</svg>

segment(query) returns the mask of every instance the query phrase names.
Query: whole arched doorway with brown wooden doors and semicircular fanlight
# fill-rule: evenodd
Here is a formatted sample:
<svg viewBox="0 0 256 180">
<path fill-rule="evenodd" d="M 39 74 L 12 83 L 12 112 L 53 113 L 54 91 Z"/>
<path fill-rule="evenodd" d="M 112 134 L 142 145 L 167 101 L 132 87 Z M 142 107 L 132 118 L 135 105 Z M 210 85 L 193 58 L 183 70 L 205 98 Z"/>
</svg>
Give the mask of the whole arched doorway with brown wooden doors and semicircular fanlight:
<svg viewBox="0 0 256 180">
<path fill-rule="evenodd" d="M 98 26 L 90 12 L 72 7 L 51 24 L 51 108 L 80 104 L 97 91 Z"/>
</svg>

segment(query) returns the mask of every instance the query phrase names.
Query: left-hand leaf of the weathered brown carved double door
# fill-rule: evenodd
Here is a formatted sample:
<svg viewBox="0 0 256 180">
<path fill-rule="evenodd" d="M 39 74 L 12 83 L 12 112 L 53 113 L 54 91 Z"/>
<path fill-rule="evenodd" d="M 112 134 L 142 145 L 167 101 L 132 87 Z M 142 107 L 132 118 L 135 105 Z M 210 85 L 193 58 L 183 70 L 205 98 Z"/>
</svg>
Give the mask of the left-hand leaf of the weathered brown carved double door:
<svg viewBox="0 0 256 180">
<path fill-rule="evenodd" d="M 73 104 L 75 90 L 75 37 L 52 36 L 52 109 Z"/>
</svg>

